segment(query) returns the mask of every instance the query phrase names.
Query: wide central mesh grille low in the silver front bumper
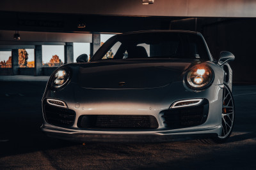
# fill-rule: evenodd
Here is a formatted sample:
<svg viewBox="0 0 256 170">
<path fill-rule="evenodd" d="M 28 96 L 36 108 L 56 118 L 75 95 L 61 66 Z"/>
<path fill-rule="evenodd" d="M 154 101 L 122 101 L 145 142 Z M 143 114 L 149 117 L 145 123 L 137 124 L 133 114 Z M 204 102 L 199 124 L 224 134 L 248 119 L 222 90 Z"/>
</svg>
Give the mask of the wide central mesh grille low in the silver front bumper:
<svg viewBox="0 0 256 170">
<path fill-rule="evenodd" d="M 150 115 L 82 115 L 77 126 L 99 129 L 156 129 L 156 117 Z"/>
</svg>

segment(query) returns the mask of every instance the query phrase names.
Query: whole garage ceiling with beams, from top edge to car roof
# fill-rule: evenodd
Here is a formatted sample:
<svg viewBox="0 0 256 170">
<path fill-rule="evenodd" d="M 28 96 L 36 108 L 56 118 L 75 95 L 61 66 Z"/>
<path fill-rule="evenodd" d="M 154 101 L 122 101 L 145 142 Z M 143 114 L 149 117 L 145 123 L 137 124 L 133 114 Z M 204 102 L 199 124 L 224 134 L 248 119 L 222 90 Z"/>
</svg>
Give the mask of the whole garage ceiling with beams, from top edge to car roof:
<svg viewBox="0 0 256 170">
<path fill-rule="evenodd" d="M 205 24 L 227 18 L 254 18 L 255 9 L 253 0 L 155 0 L 149 5 L 141 0 L 1 0 L 0 50 L 15 45 L 92 42 L 92 32 L 194 31 L 192 17 L 201 17 L 197 22 L 200 31 Z M 80 21 L 85 28 L 77 28 Z M 13 40 L 17 30 L 20 41 Z"/>
</svg>

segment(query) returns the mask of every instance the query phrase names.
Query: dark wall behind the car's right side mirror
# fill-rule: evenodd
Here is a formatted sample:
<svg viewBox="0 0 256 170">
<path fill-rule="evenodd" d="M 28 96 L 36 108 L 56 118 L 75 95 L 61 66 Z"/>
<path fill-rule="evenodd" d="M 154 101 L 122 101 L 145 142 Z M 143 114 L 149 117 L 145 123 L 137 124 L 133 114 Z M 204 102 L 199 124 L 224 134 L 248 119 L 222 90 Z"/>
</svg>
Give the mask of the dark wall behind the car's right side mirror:
<svg viewBox="0 0 256 170">
<path fill-rule="evenodd" d="M 226 20 L 203 28 L 204 37 L 216 60 L 224 50 L 235 55 L 234 62 L 230 62 L 234 81 L 256 83 L 255 23 L 254 18 Z"/>
</svg>

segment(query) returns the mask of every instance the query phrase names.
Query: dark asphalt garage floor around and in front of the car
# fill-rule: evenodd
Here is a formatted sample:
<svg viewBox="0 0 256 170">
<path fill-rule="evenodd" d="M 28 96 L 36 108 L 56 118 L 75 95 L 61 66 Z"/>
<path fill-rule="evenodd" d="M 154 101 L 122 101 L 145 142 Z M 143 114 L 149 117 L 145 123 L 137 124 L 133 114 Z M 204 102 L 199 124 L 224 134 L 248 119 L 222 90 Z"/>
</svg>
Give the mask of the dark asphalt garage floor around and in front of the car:
<svg viewBox="0 0 256 170">
<path fill-rule="evenodd" d="M 46 81 L 0 81 L 0 169 L 256 169 L 256 85 L 234 85 L 227 143 L 72 143 L 40 131 Z"/>
</svg>

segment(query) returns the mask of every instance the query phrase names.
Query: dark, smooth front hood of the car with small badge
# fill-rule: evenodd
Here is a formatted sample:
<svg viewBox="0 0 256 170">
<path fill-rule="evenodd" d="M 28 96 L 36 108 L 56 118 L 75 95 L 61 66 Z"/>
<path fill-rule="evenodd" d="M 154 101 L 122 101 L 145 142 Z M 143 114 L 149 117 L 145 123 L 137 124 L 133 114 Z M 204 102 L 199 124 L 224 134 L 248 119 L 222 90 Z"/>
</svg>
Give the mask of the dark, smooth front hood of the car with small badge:
<svg viewBox="0 0 256 170">
<path fill-rule="evenodd" d="M 105 60 L 78 64 L 77 83 L 88 89 L 152 89 L 182 81 L 195 60 Z"/>
</svg>

